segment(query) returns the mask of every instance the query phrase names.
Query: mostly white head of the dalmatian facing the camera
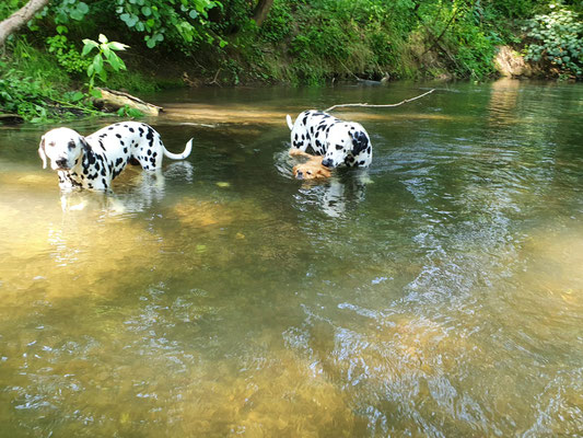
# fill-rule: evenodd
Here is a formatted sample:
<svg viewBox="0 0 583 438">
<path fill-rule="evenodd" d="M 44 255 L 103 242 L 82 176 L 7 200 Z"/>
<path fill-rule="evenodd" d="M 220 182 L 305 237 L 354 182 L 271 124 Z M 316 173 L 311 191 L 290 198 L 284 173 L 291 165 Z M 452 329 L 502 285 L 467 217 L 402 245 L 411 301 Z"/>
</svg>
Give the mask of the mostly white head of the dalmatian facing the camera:
<svg viewBox="0 0 583 438">
<path fill-rule="evenodd" d="M 69 128 L 49 130 L 40 138 L 38 155 L 43 160 L 43 169 L 47 168 L 47 158 L 54 171 L 68 171 L 73 168 L 83 149 L 89 145 L 83 136 Z"/>
</svg>

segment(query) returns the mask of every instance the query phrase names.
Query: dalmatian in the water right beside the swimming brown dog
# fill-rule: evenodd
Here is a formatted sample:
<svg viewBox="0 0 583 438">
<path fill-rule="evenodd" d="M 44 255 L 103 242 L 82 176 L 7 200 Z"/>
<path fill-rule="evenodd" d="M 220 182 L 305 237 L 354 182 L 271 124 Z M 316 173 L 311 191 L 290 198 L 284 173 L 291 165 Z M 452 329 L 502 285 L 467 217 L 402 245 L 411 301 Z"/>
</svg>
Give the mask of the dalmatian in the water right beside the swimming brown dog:
<svg viewBox="0 0 583 438">
<path fill-rule="evenodd" d="M 304 152 L 311 148 L 316 155 L 324 155 L 324 166 L 368 168 L 371 164 L 371 139 L 362 125 L 316 110 L 304 111 L 293 124 L 289 115 L 287 120 L 292 148 Z"/>
</svg>

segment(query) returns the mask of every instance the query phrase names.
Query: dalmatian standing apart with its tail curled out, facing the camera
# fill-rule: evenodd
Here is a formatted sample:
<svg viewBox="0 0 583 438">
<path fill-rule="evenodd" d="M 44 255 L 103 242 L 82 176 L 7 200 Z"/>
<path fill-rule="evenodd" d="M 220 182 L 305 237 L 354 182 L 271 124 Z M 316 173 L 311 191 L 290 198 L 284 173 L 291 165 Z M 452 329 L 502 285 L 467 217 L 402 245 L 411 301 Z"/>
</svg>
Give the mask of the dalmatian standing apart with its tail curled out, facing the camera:
<svg viewBox="0 0 583 438">
<path fill-rule="evenodd" d="M 74 187 L 108 191 L 112 181 L 128 163 L 160 174 L 164 155 L 182 160 L 191 149 L 193 139 L 186 143 L 183 153 L 168 152 L 160 134 L 151 126 L 124 122 L 88 137 L 69 128 L 49 130 L 40 139 L 38 154 L 43 169 L 47 166 L 47 159 L 50 160 L 50 168 L 59 174 L 62 191 Z"/>
</svg>

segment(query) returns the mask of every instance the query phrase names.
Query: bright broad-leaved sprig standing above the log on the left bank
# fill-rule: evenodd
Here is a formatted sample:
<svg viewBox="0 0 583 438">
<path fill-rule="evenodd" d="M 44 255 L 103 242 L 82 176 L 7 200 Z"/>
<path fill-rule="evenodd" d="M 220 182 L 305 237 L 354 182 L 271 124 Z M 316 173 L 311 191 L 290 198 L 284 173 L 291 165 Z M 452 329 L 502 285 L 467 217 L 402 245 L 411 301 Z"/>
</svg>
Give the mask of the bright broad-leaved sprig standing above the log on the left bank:
<svg viewBox="0 0 583 438">
<path fill-rule="evenodd" d="M 82 56 L 88 56 L 94 48 L 97 49 L 97 55 L 93 57 L 93 61 L 88 67 L 88 77 L 90 94 L 98 96 L 98 93 L 95 94 L 93 90 L 95 78 L 98 78 L 103 82 L 107 80 L 106 66 L 110 66 L 114 71 L 126 70 L 126 64 L 116 55 L 116 51 L 125 50 L 129 46 L 117 42 L 109 42 L 103 34 L 100 34 L 98 43 L 85 38 L 83 39 L 83 44 Z"/>
</svg>

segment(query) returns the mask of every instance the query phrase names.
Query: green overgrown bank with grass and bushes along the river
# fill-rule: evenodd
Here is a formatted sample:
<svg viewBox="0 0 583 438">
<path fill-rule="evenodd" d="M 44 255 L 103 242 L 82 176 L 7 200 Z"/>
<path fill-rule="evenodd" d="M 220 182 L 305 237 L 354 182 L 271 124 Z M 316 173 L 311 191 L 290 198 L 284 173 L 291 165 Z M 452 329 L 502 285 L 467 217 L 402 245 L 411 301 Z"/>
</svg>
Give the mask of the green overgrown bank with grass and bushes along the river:
<svg viewBox="0 0 583 438">
<path fill-rule="evenodd" d="M 25 2 L 0 5 L 0 19 Z M 107 74 L 96 76 L 96 84 L 138 94 L 209 83 L 485 80 L 497 74 L 500 45 L 526 55 L 543 74 L 582 77 L 575 1 L 273 0 L 265 20 L 256 7 L 243 0 L 51 1 L 7 44 L 0 105 L 31 120 L 94 111 L 86 74 L 94 54 L 83 53 L 82 41 L 101 33 L 130 48 L 120 54 L 128 69 L 102 66 Z"/>
</svg>

